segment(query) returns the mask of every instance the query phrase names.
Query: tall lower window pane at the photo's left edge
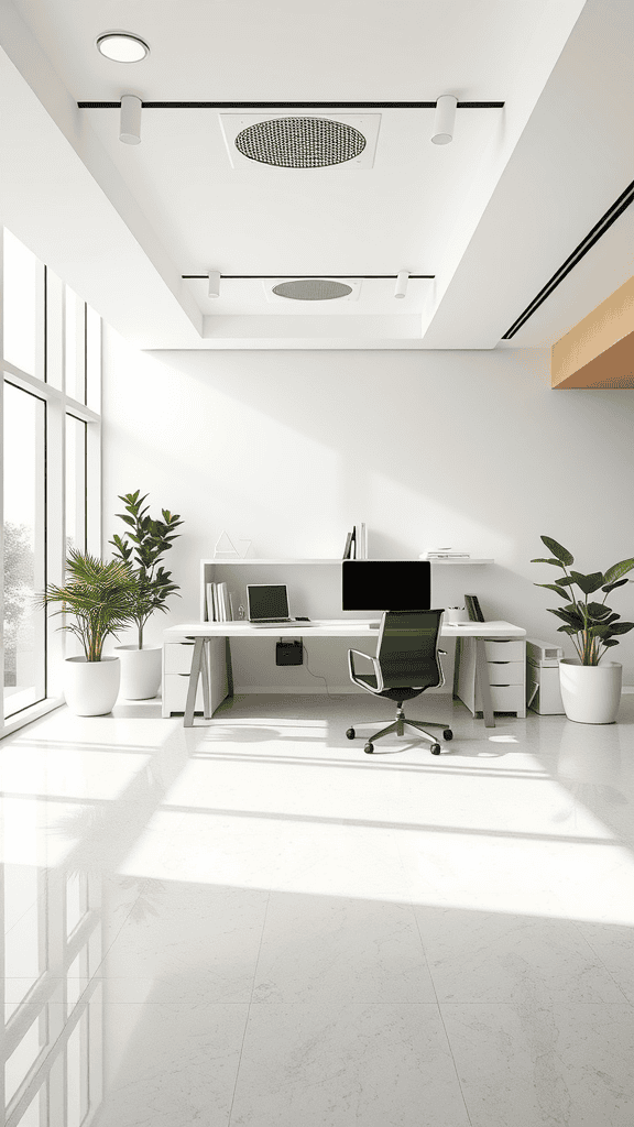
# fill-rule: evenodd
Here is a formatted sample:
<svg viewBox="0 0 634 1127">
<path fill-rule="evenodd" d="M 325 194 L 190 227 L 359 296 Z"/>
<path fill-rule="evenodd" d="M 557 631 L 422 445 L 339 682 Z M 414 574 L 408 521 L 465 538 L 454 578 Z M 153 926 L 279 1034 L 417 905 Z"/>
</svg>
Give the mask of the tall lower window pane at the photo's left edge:
<svg viewBox="0 0 634 1127">
<path fill-rule="evenodd" d="M 5 383 L 5 716 L 45 695 L 45 405 Z"/>
</svg>

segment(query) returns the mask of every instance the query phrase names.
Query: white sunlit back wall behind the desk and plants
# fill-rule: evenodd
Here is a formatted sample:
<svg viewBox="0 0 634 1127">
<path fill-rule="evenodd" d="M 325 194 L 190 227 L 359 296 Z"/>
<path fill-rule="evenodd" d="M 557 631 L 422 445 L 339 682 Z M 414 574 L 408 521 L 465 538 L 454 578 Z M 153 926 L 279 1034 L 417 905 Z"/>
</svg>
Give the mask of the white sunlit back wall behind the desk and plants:
<svg viewBox="0 0 634 1127">
<path fill-rule="evenodd" d="M 222 530 L 259 557 L 340 556 L 360 521 L 377 558 L 464 547 L 495 564 L 435 569 L 437 605 L 474 592 L 560 641 L 540 533 L 581 571 L 634 556 L 634 397 L 551 390 L 545 350 L 139 353 L 112 330 L 104 350 L 104 548 L 122 492 L 185 522 L 166 561 L 183 597 L 150 639 L 199 619 Z M 610 602 L 634 620 L 634 585 Z M 613 654 L 629 684 L 633 637 Z"/>
</svg>

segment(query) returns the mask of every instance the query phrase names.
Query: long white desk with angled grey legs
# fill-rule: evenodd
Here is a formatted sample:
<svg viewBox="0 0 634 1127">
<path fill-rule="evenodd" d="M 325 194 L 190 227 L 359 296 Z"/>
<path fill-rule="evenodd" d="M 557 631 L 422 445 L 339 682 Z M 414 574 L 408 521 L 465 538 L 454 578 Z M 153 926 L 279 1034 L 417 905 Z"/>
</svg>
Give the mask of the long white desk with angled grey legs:
<svg viewBox="0 0 634 1127">
<path fill-rule="evenodd" d="M 194 653 L 190 673 L 190 684 L 187 690 L 187 701 L 183 724 L 185 728 L 193 727 L 194 709 L 196 701 L 196 690 L 201 672 L 203 673 L 203 715 L 205 719 L 211 719 L 214 710 L 226 695 L 234 695 L 231 677 L 231 638 L 368 638 L 375 639 L 378 629 L 371 628 L 373 619 L 324 619 L 312 620 L 310 623 L 293 622 L 290 625 L 275 627 L 253 627 L 249 622 L 186 622 L 175 627 L 169 627 L 164 631 L 164 642 L 180 642 L 183 638 L 193 638 Z M 460 622 L 457 625 L 443 624 L 440 631 L 441 638 L 474 638 L 476 640 L 476 678 L 482 696 L 482 711 L 484 724 L 487 728 L 495 727 L 493 703 L 491 699 L 491 687 L 488 683 L 488 668 L 486 660 L 485 640 L 501 641 L 513 638 L 525 638 L 526 630 L 514 627 L 511 622 Z M 220 649 L 217 647 L 214 654 L 215 676 L 209 665 L 208 647 L 205 642 L 217 639 Z M 223 640 L 223 647 L 222 647 Z M 220 658 L 220 662 L 219 662 Z M 221 681 L 218 677 L 218 666 L 223 665 L 222 691 Z M 215 699 L 214 699 L 215 698 Z"/>
</svg>

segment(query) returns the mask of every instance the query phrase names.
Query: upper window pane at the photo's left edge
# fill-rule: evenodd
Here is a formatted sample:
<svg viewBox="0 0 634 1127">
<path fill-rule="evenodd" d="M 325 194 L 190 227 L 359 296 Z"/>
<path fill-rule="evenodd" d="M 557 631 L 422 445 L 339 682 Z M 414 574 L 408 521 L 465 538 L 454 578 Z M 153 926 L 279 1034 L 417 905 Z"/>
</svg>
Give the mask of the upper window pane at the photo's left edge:
<svg viewBox="0 0 634 1127">
<path fill-rule="evenodd" d="M 5 230 L 5 360 L 35 375 L 38 263 Z"/>
</svg>

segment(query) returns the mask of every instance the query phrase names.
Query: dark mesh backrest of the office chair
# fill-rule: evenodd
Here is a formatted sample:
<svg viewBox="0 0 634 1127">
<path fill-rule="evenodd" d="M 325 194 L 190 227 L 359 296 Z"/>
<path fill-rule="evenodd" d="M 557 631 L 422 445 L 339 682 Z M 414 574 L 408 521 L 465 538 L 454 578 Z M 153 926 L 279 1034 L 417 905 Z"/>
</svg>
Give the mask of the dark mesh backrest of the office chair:
<svg viewBox="0 0 634 1127">
<path fill-rule="evenodd" d="M 386 611 L 377 659 L 386 689 L 431 689 L 442 681 L 438 658 L 440 611 Z"/>
</svg>

